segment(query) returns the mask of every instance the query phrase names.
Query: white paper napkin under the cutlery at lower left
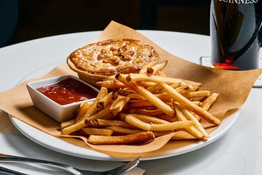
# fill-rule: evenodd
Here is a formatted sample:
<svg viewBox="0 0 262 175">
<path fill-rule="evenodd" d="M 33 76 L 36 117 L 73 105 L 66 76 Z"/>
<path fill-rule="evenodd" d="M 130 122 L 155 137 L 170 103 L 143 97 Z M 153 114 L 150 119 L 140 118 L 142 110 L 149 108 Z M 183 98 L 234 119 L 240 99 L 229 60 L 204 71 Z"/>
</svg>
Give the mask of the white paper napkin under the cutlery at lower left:
<svg viewBox="0 0 262 175">
<path fill-rule="evenodd" d="M 51 149 L 47 149 L 25 138 L 25 136 L 21 134 L 10 121 L 8 114 L 3 112 L 1 109 L 0 117 L 0 153 L 41 160 L 50 160 L 74 166 L 79 169 L 91 171 L 106 171 L 123 165 L 123 163 L 115 161 L 101 161 L 77 158 L 74 156 L 55 152 Z M 0 162 L 0 166 L 25 174 L 70 174 L 57 168 L 36 164 Z M 139 175 L 144 174 L 144 172 L 145 170 L 136 167 L 133 170 L 129 171 L 127 175 Z"/>
</svg>

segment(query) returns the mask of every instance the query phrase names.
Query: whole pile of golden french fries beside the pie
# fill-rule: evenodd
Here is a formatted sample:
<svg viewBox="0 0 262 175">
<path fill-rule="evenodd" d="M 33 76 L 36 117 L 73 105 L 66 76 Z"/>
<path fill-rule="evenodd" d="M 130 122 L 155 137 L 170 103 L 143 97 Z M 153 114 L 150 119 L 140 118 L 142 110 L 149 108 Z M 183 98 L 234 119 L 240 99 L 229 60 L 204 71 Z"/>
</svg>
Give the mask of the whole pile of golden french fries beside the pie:
<svg viewBox="0 0 262 175">
<path fill-rule="evenodd" d="M 171 139 L 209 137 L 199 120 L 221 123 L 208 112 L 219 93 L 199 91 L 199 82 L 166 77 L 166 64 L 152 61 L 138 74 L 97 82 L 102 88 L 95 101 L 82 103 L 74 120 L 61 123 L 61 135 L 85 135 L 91 144 L 144 143 L 169 133 Z"/>
</svg>

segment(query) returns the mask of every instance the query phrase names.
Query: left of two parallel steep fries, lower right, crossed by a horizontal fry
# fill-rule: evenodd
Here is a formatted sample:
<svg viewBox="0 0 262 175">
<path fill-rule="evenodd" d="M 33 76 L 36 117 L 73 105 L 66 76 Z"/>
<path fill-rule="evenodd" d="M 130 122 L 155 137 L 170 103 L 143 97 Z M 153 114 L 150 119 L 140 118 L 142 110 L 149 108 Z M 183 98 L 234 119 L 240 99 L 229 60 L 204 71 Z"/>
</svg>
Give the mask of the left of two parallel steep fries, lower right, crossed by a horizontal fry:
<svg viewBox="0 0 262 175">
<path fill-rule="evenodd" d="M 176 116 L 177 116 L 178 120 L 180 120 L 180 121 L 188 121 L 188 119 L 185 117 L 185 115 L 180 110 L 180 107 L 177 104 L 175 104 L 175 103 L 173 103 L 173 106 L 174 106 L 174 111 L 176 112 Z M 192 121 L 195 122 L 196 120 L 192 120 Z M 198 131 L 197 128 L 194 127 L 194 124 L 190 128 L 185 128 L 185 130 L 188 133 L 190 133 L 192 136 L 194 136 L 194 137 L 196 137 L 198 139 L 201 139 L 203 137 L 203 134 L 200 131 Z"/>
</svg>

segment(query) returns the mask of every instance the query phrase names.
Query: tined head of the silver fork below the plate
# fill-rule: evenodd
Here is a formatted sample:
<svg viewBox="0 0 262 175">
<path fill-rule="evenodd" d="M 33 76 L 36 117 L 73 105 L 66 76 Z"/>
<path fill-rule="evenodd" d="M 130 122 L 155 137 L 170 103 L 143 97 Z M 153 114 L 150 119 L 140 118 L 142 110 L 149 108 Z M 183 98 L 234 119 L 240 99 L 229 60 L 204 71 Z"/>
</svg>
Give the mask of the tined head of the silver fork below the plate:
<svg viewBox="0 0 262 175">
<path fill-rule="evenodd" d="M 115 168 L 115 169 L 112 169 L 110 171 L 107 172 L 108 175 L 110 174 L 124 174 L 126 173 L 127 171 L 131 170 L 132 168 L 136 167 L 139 163 L 139 160 L 141 160 L 141 156 L 136 158 L 135 160 L 132 160 L 131 162 L 123 165 L 123 166 L 120 166 L 118 168 Z"/>
</svg>

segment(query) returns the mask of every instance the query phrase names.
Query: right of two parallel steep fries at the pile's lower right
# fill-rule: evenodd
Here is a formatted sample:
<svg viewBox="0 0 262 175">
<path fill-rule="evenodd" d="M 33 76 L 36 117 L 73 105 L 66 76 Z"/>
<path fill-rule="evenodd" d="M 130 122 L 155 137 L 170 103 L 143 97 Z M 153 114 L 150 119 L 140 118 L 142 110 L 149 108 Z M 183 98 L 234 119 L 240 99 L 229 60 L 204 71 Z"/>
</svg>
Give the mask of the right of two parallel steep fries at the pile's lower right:
<svg viewBox="0 0 262 175">
<path fill-rule="evenodd" d="M 177 104 L 173 104 L 173 105 L 177 105 Z M 194 121 L 194 127 L 200 131 L 204 137 L 209 137 L 208 133 L 205 131 L 205 129 L 202 127 L 202 125 L 199 123 L 199 121 L 196 119 L 196 117 L 194 117 L 193 114 L 191 114 L 191 112 L 189 112 L 187 109 L 185 109 L 183 106 L 179 105 L 181 111 L 183 112 L 185 118 L 187 118 L 187 120 L 193 120 Z M 191 134 L 192 136 L 194 136 L 193 134 Z"/>
</svg>

